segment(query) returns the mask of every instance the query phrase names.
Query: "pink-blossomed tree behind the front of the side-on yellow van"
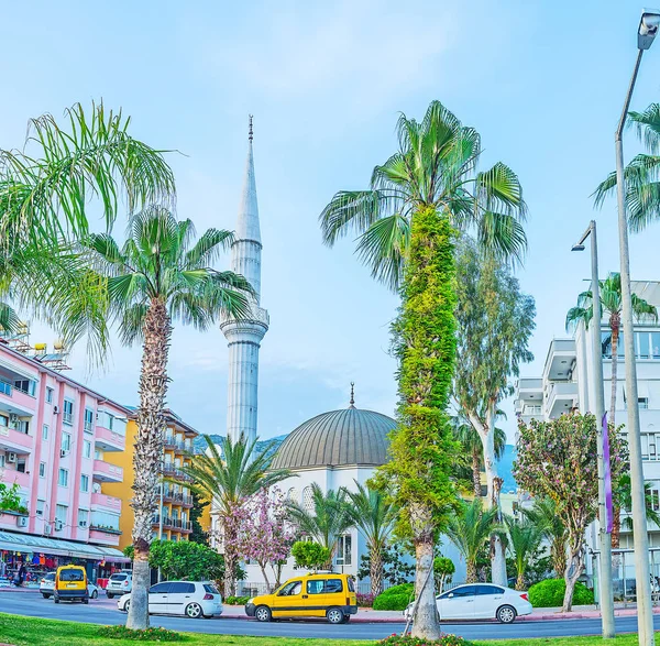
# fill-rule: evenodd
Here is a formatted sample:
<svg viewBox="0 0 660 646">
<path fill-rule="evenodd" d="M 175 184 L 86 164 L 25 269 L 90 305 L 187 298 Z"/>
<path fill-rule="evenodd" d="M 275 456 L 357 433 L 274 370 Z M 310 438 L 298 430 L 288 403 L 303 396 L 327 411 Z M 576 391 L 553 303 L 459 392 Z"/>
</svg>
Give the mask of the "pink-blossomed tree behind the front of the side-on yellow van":
<svg viewBox="0 0 660 646">
<path fill-rule="evenodd" d="M 282 565 L 296 540 L 294 527 L 286 519 L 284 494 L 277 488 L 270 492 L 262 489 L 244 501 L 242 512 L 238 549 L 243 558 L 258 563 L 271 590 L 266 567 L 271 566 L 277 585 Z"/>
</svg>

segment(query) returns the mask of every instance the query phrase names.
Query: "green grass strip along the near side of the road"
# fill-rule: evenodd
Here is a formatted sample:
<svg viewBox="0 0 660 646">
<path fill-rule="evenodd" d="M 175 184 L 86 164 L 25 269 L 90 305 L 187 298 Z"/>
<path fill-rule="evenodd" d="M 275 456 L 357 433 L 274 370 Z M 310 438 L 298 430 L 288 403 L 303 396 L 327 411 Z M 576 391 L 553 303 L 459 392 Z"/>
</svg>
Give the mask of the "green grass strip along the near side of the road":
<svg viewBox="0 0 660 646">
<path fill-rule="evenodd" d="M 185 633 L 185 646 L 366 646 L 375 642 L 360 639 L 297 639 L 290 637 L 243 637 L 234 635 L 204 635 Z M 136 646 L 155 642 L 107 639 L 98 635 L 98 625 L 56 620 L 41 620 L 0 614 L 0 644 L 13 646 Z M 607 642 L 607 646 L 636 646 L 637 635 L 623 635 Z M 476 646 L 602 646 L 601 637 L 541 637 L 539 639 L 497 639 L 474 642 Z"/>
</svg>

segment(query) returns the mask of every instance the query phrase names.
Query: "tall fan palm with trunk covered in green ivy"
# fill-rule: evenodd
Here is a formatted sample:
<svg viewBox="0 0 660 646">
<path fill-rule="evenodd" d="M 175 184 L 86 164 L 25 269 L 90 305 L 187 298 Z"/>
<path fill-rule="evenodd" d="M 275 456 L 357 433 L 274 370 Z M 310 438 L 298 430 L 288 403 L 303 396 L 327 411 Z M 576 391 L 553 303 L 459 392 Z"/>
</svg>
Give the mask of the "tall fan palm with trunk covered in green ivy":
<svg viewBox="0 0 660 646">
<path fill-rule="evenodd" d="M 397 130 L 399 150 L 374 168 L 370 188 L 334 195 L 320 225 L 329 245 L 356 232 L 358 254 L 372 275 L 394 291 L 404 286 L 397 343 L 399 426 L 391 445 L 394 459 L 382 473 L 415 545 L 419 603 L 414 635 L 437 639 L 440 626 L 430 580 L 433 536 L 451 507 L 451 483 L 440 475 L 451 469 L 455 450 L 442 417 L 455 360 L 453 234 L 472 230 L 493 253 L 520 258 L 526 248 L 520 223 L 525 202 L 508 166 L 497 163 L 476 172 L 479 133 L 439 101 L 429 106 L 421 122 L 402 114 Z M 425 304 L 428 311 L 421 311 Z M 417 325 L 416 317 L 425 325 Z M 429 358 L 424 368 L 414 360 L 421 355 Z M 422 442 L 433 446 L 415 453 Z"/>
</svg>

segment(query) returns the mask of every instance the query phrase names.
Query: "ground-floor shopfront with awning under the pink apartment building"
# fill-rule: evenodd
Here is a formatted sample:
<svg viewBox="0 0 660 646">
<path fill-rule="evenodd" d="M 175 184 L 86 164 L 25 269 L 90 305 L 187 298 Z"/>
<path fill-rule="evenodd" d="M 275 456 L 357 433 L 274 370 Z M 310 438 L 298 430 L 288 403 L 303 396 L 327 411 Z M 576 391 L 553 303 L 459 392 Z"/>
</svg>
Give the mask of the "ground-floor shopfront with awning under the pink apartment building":
<svg viewBox="0 0 660 646">
<path fill-rule="evenodd" d="M 69 563 L 84 566 L 89 580 L 96 582 L 130 562 L 113 547 L 0 532 L 0 578 L 18 577 L 26 584 L 36 585 L 43 574 Z"/>
</svg>

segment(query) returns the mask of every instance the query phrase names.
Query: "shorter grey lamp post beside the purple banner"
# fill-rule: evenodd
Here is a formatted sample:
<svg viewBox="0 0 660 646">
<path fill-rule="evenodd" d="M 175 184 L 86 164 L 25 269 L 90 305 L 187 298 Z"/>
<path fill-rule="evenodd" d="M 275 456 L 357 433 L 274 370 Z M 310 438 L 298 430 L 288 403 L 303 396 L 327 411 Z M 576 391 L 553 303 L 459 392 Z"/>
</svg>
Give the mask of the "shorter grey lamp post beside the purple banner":
<svg viewBox="0 0 660 646">
<path fill-rule="evenodd" d="M 591 236 L 592 261 L 592 370 L 594 381 L 594 414 L 596 416 L 598 442 L 598 545 L 601 559 L 598 569 L 602 631 L 604 639 L 612 639 L 614 627 L 614 593 L 612 590 L 612 534 L 607 530 L 607 510 L 605 503 L 605 460 L 603 456 L 603 416 L 605 415 L 605 393 L 603 392 L 603 353 L 601 349 L 601 285 L 598 283 L 598 242 L 596 222 L 592 220 L 580 242 L 571 251 L 584 251 L 584 241 Z"/>
</svg>

